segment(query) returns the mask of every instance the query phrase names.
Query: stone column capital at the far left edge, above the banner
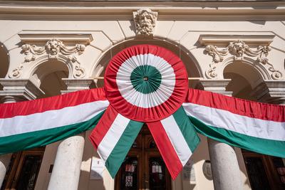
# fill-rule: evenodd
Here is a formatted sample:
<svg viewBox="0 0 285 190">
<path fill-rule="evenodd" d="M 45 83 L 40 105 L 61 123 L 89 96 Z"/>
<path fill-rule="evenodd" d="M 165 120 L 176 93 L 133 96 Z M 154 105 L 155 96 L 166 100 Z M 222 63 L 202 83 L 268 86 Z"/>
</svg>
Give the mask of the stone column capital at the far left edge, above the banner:
<svg viewBox="0 0 285 190">
<path fill-rule="evenodd" d="M 29 79 L 1 78 L 0 84 L 3 86 L 3 90 L 0 91 L 2 98 L 12 96 L 22 100 L 34 100 L 44 95 L 43 91 Z"/>
</svg>

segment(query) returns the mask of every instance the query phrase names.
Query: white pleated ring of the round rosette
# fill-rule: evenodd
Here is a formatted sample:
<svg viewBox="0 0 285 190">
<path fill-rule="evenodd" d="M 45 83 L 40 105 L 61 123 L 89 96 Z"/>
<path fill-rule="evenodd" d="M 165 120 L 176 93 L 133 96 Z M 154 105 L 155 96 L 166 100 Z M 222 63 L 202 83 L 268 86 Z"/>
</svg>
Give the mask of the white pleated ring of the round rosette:
<svg viewBox="0 0 285 190">
<path fill-rule="evenodd" d="M 160 87 L 155 92 L 143 94 L 133 88 L 130 75 L 140 65 L 151 65 L 160 71 L 162 80 Z M 140 54 L 125 60 L 120 66 L 116 83 L 121 95 L 132 105 L 144 108 L 155 107 L 168 100 L 172 95 L 175 88 L 175 73 L 170 63 L 167 63 L 163 58 L 150 53 Z"/>
</svg>

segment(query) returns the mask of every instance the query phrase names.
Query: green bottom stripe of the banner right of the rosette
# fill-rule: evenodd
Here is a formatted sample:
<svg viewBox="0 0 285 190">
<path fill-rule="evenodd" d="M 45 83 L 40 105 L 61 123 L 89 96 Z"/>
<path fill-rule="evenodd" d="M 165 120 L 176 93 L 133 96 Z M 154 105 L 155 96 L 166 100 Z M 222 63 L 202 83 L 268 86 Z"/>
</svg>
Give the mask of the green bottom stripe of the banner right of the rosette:
<svg viewBox="0 0 285 190">
<path fill-rule="evenodd" d="M 275 157 L 285 157 L 284 141 L 261 139 L 218 127 L 212 127 L 205 125 L 202 121 L 197 120 L 195 117 L 190 117 L 190 120 L 195 125 L 197 132 L 211 139 L 224 142 L 234 147 L 247 149 L 252 152 L 268 154 Z"/>
</svg>

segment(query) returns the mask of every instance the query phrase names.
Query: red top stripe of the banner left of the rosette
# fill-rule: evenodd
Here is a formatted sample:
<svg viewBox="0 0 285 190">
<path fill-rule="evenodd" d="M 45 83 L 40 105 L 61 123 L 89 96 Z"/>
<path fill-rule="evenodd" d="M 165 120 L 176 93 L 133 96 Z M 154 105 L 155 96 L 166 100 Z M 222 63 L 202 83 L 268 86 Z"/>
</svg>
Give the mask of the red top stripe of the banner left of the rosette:
<svg viewBox="0 0 285 190">
<path fill-rule="evenodd" d="M 80 90 L 74 93 L 56 95 L 37 100 L 0 104 L 0 118 L 9 118 L 17 115 L 31 115 L 38 112 L 46 112 L 48 110 L 60 110 L 63 107 L 71 107 L 98 100 L 107 100 L 103 88 Z"/>
</svg>

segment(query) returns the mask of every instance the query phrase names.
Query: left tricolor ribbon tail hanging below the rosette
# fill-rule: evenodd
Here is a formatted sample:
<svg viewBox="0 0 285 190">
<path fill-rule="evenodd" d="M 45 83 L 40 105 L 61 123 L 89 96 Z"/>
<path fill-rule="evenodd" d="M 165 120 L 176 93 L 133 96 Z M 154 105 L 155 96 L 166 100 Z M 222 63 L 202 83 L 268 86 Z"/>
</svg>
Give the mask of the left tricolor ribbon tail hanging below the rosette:
<svg viewBox="0 0 285 190">
<path fill-rule="evenodd" d="M 120 169 L 142 125 L 142 122 L 136 122 L 120 115 L 109 105 L 90 134 L 90 141 L 113 178 Z"/>
</svg>

